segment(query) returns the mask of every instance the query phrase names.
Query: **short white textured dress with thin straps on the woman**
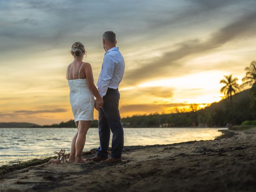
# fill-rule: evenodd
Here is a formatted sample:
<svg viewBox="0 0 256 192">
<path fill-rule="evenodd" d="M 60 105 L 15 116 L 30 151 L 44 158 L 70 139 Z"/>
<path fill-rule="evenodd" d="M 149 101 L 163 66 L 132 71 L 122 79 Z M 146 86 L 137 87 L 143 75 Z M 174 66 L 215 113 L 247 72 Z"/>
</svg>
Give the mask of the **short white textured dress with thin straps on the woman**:
<svg viewBox="0 0 256 192">
<path fill-rule="evenodd" d="M 94 96 L 88 88 L 87 80 L 80 79 L 79 76 L 82 65 L 78 71 L 78 79 L 68 79 L 69 100 L 75 122 L 92 121 L 94 112 Z"/>
</svg>

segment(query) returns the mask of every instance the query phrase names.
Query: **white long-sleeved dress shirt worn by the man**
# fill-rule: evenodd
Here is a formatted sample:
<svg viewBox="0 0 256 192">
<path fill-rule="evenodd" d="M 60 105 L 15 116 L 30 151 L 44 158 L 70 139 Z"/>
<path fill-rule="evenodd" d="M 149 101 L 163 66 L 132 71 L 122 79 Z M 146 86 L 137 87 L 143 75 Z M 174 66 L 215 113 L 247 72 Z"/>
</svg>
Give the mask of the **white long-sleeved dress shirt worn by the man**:
<svg viewBox="0 0 256 192">
<path fill-rule="evenodd" d="M 118 47 L 106 51 L 97 81 L 100 96 L 106 95 L 108 88 L 117 89 L 124 75 L 124 58 Z"/>
</svg>

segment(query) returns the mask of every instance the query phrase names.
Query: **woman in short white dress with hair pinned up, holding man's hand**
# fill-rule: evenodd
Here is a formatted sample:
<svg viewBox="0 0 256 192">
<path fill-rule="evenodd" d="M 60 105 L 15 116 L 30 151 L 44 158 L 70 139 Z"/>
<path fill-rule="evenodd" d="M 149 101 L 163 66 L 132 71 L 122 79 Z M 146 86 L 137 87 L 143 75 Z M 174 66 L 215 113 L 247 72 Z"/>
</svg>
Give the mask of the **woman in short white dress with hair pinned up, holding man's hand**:
<svg viewBox="0 0 256 192">
<path fill-rule="evenodd" d="M 74 61 L 67 67 L 66 78 L 70 88 L 70 105 L 76 123 L 77 133 L 72 139 L 70 158 L 68 162 L 85 164 L 81 158 L 86 140 L 86 134 L 93 120 L 94 97 L 96 105 L 102 108 L 102 100 L 98 89 L 94 85 L 92 66 L 90 63 L 83 62 L 86 50 L 81 42 L 72 45 L 70 53 Z"/>
</svg>

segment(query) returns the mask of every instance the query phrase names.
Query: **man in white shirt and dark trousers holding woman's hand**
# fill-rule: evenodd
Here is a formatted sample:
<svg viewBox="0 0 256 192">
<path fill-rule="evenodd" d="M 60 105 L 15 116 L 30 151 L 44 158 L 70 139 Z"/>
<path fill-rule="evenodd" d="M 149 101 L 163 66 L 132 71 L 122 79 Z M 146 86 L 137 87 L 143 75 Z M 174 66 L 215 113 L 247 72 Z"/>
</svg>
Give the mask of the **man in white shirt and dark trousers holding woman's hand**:
<svg viewBox="0 0 256 192">
<path fill-rule="evenodd" d="M 118 104 L 120 93 L 118 86 L 124 75 L 124 58 L 116 47 L 116 34 L 112 31 L 104 32 L 102 46 L 106 51 L 98 78 L 97 87 L 104 102 L 95 100 L 95 108 L 99 112 L 100 147 L 95 157 L 86 159 L 101 163 L 121 162 L 124 147 L 124 130 L 121 124 Z M 104 103 L 104 104 L 103 104 Z M 108 158 L 108 147 L 112 136 L 112 148 Z"/>
</svg>

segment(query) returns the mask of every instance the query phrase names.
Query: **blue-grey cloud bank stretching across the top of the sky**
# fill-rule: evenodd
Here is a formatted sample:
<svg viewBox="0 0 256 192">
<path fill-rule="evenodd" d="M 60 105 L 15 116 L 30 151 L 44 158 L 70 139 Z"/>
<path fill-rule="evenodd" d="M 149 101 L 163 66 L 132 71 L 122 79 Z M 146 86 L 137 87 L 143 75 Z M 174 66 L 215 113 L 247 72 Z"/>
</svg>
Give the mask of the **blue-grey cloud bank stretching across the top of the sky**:
<svg viewBox="0 0 256 192">
<path fill-rule="evenodd" d="M 179 26 L 210 11 L 216 14 L 217 9 L 230 6 L 230 2 L 239 4 L 234 0 L 4 1 L 0 4 L 4 24 L 0 29 L 0 50 L 20 51 L 20 47 L 24 46 L 26 50 L 37 48 L 37 51 L 63 49 L 74 40 L 100 47 L 102 32 L 110 28 L 117 32 L 118 37 L 132 43 L 133 39 L 155 37 L 170 24 Z"/>
</svg>

